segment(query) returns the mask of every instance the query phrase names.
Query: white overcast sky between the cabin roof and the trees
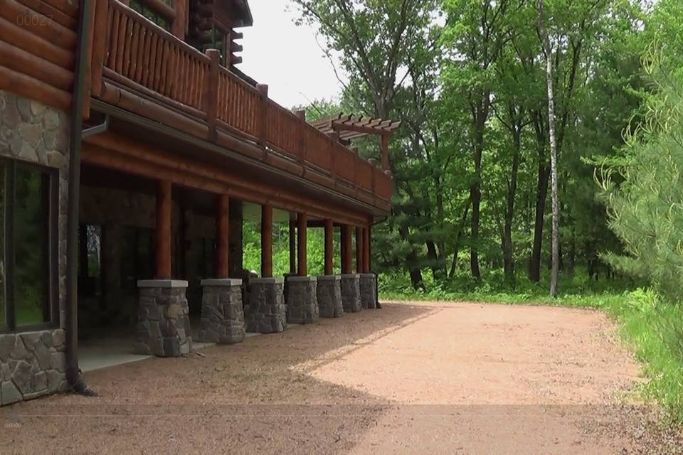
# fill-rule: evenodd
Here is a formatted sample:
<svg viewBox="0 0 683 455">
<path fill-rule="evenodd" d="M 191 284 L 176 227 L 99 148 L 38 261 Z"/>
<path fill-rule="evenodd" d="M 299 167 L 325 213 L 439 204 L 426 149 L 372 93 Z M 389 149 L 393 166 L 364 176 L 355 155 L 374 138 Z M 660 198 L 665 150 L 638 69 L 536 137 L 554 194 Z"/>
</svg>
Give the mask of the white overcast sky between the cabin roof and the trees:
<svg viewBox="0 0 683 455">
<path fill-rule="evenodd" d="M 290 108 L 313 100 L 337 97 L 341 86 L 316 41 L 315 28 L 297 27 L 297 10 L 290 0 L 249 0 L 254 26 L 244 33 L 243 62 L 238 68 L 268 84 L 268 95 Z M 287 6 L 290 6 L 286 11 Z M 318 40 L 322 44 L 323 38 Z"/>
</svg>

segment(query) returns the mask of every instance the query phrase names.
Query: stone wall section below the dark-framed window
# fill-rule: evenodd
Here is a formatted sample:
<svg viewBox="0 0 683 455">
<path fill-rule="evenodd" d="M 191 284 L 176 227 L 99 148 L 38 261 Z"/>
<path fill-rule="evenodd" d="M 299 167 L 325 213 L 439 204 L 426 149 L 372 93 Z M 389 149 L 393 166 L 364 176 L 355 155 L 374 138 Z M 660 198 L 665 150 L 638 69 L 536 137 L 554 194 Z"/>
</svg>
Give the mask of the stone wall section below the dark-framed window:
<svg viewBox="0 0 683 455">
<path fill-rule="evenodd" d="M 65 392 L 62 329 L 0 335 L 0 405 Z"/>
</svg>

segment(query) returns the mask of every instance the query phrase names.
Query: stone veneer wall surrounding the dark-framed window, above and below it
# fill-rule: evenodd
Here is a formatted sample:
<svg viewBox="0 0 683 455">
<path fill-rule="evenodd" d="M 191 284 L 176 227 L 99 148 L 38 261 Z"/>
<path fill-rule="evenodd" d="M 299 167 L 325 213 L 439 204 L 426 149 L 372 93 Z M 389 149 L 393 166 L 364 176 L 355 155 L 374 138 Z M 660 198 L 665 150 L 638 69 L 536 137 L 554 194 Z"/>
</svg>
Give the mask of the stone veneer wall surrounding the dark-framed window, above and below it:
<svg viewBox="0 0 683 455">
<path fill-rule="evenodd" d="M 66 324 L 68 112 L 0 90 L 0 156 L 58 169 L 58 327 Z M 0 404 L 66 389 L 65 334 L 60 328 L 0 334 Z"/>
</svg>

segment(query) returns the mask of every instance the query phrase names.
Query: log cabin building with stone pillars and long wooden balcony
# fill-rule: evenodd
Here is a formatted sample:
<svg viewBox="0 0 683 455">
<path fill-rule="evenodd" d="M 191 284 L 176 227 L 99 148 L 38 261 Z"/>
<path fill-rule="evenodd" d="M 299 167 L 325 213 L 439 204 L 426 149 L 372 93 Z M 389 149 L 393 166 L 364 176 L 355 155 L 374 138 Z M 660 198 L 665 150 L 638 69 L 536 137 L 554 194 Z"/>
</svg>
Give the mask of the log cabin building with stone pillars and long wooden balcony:
<svg viewBox="0 0 683 455">
<path fill-rule="evenodd" d="M 111 346 L 176 357 L 378 305 L 398 124 L 277 105 L 238 68 L 252 23 L 247 0 L 0 0 L 0 405 L 84 390 L 85 353 Z M 349 148 L 367 134 L 379 162 Z"/>
</svg>

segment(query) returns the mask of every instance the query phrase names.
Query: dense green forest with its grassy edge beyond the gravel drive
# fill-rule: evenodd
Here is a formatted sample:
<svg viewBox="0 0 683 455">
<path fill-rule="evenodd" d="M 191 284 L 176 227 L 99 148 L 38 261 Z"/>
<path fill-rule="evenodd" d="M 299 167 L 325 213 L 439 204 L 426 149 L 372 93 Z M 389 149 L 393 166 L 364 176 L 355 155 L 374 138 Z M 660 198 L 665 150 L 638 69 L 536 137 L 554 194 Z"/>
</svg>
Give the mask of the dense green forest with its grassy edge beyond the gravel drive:
<svg viewBox="0 0 683 455">
<path fill-rule="evenodd" d="M 393 211 L 373 228 L 381 296 L 604 309 L 647 365 L 646 394 L 683 418 L 682 2 L 292 9 L 343 87 L 309 119 L 402 122 Z"/>
</svg>

